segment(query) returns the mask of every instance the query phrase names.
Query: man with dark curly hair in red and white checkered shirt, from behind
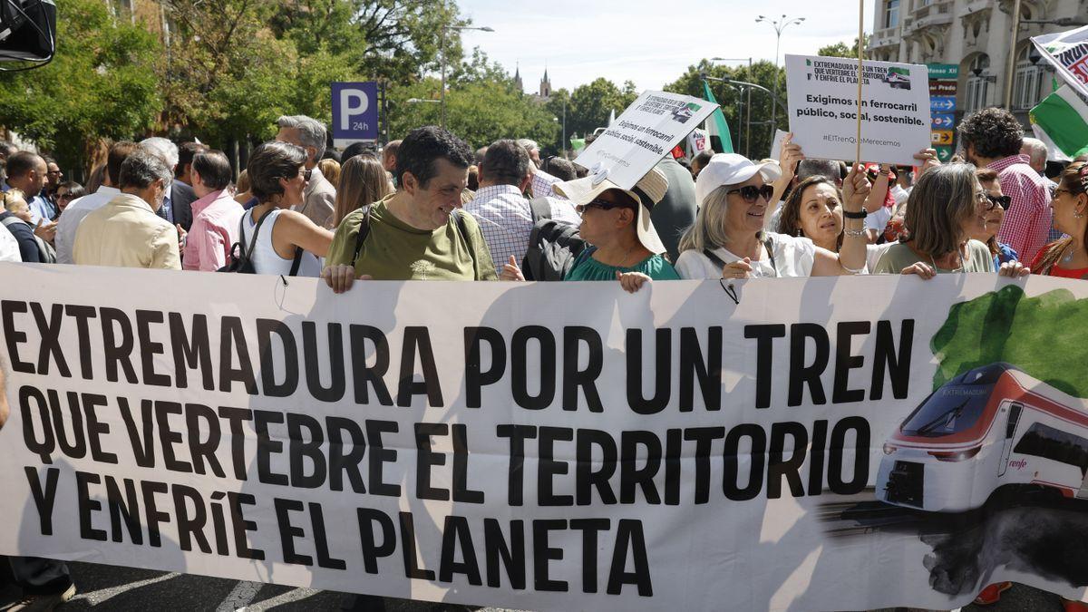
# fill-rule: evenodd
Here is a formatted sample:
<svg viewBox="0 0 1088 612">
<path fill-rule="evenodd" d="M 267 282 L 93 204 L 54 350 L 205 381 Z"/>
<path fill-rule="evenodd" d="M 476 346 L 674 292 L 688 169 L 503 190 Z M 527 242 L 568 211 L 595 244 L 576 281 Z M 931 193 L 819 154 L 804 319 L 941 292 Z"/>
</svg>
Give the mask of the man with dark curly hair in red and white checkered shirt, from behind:
<svg viewBox="0 0 1088 612">
<path fill-rule="evenodd" d="M 964 156 L 978 168 L 998 172 L 1001 192 L 1012 198 L 998 240 L 1031 261 L 1050 235 L 1050 192 L 1030 158 L 1022 155 L 1024 128 L 1005 109 L 968 114 L 959 126 Z"/>
</svg>

